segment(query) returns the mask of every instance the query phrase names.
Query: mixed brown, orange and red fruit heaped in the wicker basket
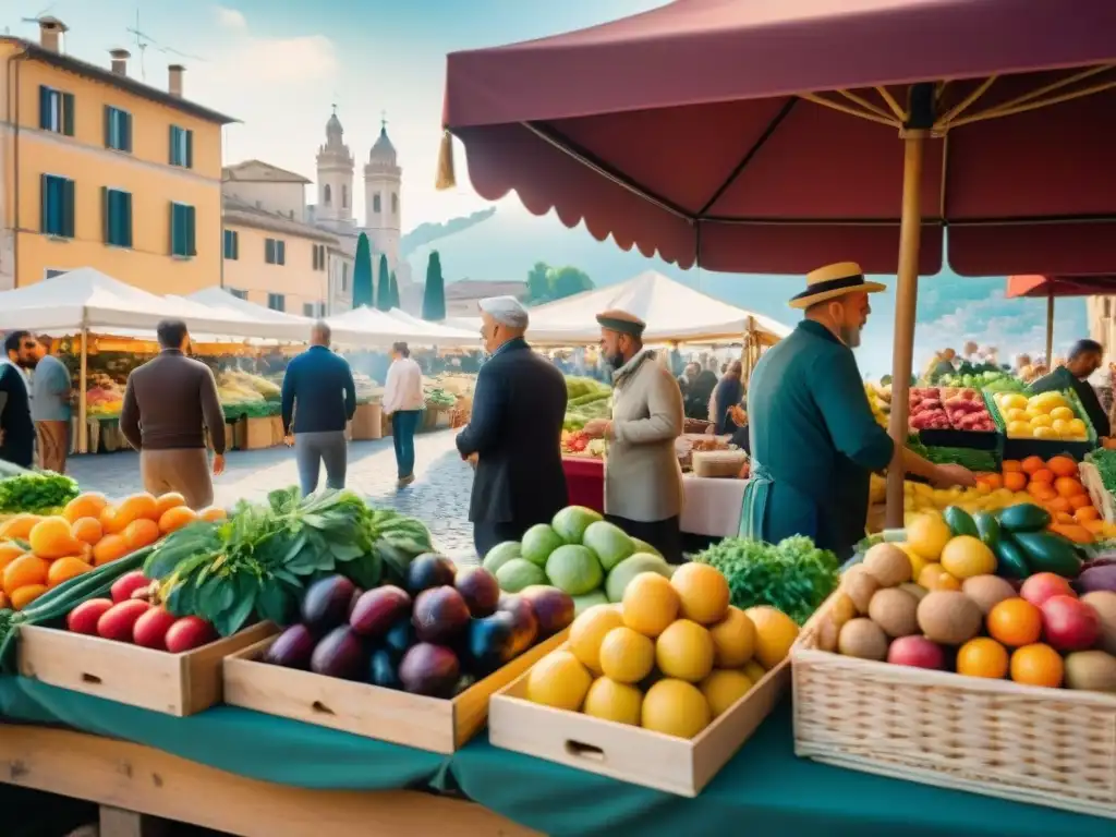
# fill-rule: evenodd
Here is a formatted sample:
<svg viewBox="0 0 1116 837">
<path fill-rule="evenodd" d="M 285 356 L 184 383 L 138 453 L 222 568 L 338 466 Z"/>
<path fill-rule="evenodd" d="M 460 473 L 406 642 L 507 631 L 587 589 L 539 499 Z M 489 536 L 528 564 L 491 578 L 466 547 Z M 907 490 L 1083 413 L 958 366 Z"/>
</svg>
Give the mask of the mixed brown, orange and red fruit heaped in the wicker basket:
<svg viewBox="0 0 1116 837">
<path fill-rule="evenodd" d="M 1008 537 L 1023 543 L 1024 535 L 1057 537 L 1036 529 L 1013 529 Z M 979 538 L 950 537 L 947 528 L 935 537 L 945 538 L 936 566 L 951 584 L 943 584 L 935 565 L 916 574 L 908 550 L 876 545 L 845 574 L 818 624 L 819 647 L 970 677 L 1116 694 L 1116 593 L 1079 597 L 1057 570 L 1037 570 L 1017 588 L 993 575 L 997 555 Z M 1033 558 L 1039 550 L 1029 545 Z"/>
</svg>

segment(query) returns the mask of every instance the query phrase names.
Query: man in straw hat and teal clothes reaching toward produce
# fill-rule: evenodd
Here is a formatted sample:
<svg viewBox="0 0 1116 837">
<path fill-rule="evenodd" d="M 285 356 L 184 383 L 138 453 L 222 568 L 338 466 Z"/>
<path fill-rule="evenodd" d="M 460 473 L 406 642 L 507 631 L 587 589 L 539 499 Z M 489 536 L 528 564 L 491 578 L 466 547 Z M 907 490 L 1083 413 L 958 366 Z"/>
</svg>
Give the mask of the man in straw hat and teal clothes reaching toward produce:
<svg viewBox="0 0 1116 837">
<path fill-rule="evenodd" d="M 884 289 L 846 261 L 815 270 L 791 299 L 805 319 L 763 354 L 749 387 L 744 537 L 773 543 L 806 535 L 839 558 L 864 537 L 869 477 L 892 461 L 894 443 L 872 415 L 853 349 L 872 311 L 868 295 Z M 903 465 L 937 485 L 975 484 L 968 469 L 908 450 Z"/>
</svg>

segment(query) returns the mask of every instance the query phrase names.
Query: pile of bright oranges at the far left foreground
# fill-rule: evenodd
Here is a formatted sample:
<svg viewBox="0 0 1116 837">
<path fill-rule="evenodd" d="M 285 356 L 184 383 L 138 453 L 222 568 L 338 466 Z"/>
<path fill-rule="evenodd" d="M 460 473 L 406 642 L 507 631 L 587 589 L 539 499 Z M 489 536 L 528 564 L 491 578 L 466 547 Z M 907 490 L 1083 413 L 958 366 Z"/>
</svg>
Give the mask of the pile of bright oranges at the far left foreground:
<svg viewBox="0 0 1116 837">
<path fill-rule="evenodd" d="M 193 511 L 177 493 L 132 494 L 113 506 L 95 492 L 74 498 L 61 514 L 17 514 L 0 526 L 0 608 L 20 610 L 62 581 L 194 520 L 223 517 L 222 509 Z"/>
</svg>

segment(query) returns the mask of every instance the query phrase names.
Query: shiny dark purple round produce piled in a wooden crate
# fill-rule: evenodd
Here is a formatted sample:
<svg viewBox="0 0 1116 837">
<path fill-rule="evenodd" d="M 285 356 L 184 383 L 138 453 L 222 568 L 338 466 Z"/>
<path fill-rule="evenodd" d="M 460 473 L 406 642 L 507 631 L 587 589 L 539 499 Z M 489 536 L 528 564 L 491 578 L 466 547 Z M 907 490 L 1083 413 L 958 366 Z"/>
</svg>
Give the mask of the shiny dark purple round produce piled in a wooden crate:
<svg viewBox="0 0 1116 837">
<path fill-rule="evenodd" d="M 552 587 L 501 594 L 481 567 L 456 569 L 426 554 L 403 586 L 362 591 L 345 576 L 306 589 L 299 622 L 264 662 L 431 698 L 452 698 L 574 620 L 574 600 Z"/>
</svg>

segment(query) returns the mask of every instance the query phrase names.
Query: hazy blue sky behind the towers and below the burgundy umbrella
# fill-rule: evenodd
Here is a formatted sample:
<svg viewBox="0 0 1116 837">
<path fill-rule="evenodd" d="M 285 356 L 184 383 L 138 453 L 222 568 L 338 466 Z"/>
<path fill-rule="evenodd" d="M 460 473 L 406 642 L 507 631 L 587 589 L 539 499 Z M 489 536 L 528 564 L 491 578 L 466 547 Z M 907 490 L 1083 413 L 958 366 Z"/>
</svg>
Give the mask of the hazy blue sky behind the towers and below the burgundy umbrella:
<svg viewBox="0 0 1116 837">
<path fill-rule="evenodd" d="M 49 13 L 70 31 L 66 49 L 108 64 L 108 50 L 133 52 L 129 73 L 166 84 L 166 65 L 186 66 L 185 95 L 243 124 L 225 134 L 225 161 L 251 157 L 311 180 L 314 155 L 324 142 L 330 105 L 338 105 L 345 138 L 360 166 L 379 133 L 381 114 L 404 169 L 404 227 L 443 221 L 487 205 L 468 181 L 453 192 L 434 190 L 441 138 L 445 54 L 494 46 L 591 26 L 661 4 L 658 0 L 228 0 L 223 4 L 171 0 L 2 0 L 0 26 L 35 38 L 22 17 Z M 148 36 L 141 67 L 136 27 Z M 456 155 L 463 164 L 464 155 Z M 358 174 L 359 177 L 359 174 Z M 363 212 L 357 202 L 358 214 Z M 575 263 L 598 285 L 654 268 L 714 296 L 786 323 L 796 315 L 786 300 L 800 287 L 793 277 L 727 276 L 677 271 L 661 262 L 623 254 L 584 230 L 567 233 L 552 218 L 535 219 L 514 196 L 497 217 L 440 242 L 451 280 L 522 279 L 537 259 Z M 514 239 L 514 244 L 507 242 Z M 493 248 L 513 252 L 493 257 Z M 897 247 L 897 242 L 896 242 Z M 416 264 L 421 276 L 423 264 Z M 893 278 L 883 278 L 889 285 Z M 952 273 L 920 282 L 916 364 L 946 345 L 966 339 L 1000 348 L 1001 357 L 1036 352 L 1045 340 L 1041 300 L 1004 300 L 1003 279 L 962 279 Z M 873 299 L 874 314 L 858 352 L 874 375 L 889 372 L 894 295 Z M 1083 300 L 1058 305 L 1056 345 L 1086 333 Z"/>
</svg>

